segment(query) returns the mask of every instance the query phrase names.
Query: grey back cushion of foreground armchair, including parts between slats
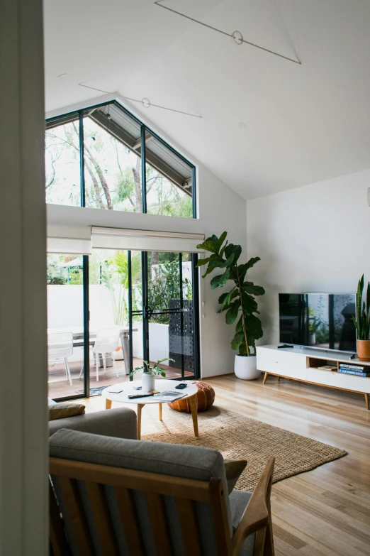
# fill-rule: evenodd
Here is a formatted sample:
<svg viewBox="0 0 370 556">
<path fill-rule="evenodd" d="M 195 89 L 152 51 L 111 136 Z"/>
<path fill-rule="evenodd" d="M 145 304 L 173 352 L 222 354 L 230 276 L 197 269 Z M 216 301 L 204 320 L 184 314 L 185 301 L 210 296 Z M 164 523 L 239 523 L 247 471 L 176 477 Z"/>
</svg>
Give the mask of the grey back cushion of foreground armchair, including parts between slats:
<svg viewBox="0 0 370 556">
<path fill-rule="evenodd" d="M 196 447 L 190 445 L 175 445 L 165 442 L 145 442 L 141 440 L 123 440 L 100 435 L 91 435 L 85 432 L 61 429 L 55 432 L 49 440 L 50 456 L 62 459 L 72 459 L 79 462 L 89 462 L 125 469 L 136 469 L 152 473 L 178 476 L 199 481 L 208 481 L 219 478 L 223 482 L 225 501 L 228 511 L 230 536 L 232 535 L 232 522 L 230 503 L 228 499 L 228 487 L 225 477 L 225 466 L 223 457 L 218 450 L 211 448 Z M 58 501 L 65 517 L 66 528 L 71 543 L 74 545 L 73 553 L 76 552 L 73 542 L 72 529 L 69 527 L 67 512 L 63 511 L 63 497 L 58 486 L 57 477 L 52 477 Z M 102 554 L 99 550 L 99 540 L 94 540 L 94 517 L 90 512 L 89 502 L 86 500 L 84 486 L 79 485 L 80 493 L 84 499 L 89 530 L 93 537 L 96 554 Z M 120 546 L 124 553 L 125 535 L 123 533 L 120 514 L 113 489 L 106 486 L 106 493 L 113 525 L 116 535 L 121 539 Z M 141 491 L 133 491 L 135 510 L 140 523 L 142 543 L 145 554 L 156 555 L 155 541 L 153 538 L 150 520 L 147 515 L 145 496 Z M 201 538 L 202 555 L 213 556 L 217 553 L 213 516 L 209 503 L 196 502 L 196 516 Z M 177 513 L 176 500 L 172 496 L 164 496 L 164 509 L 169 520 L 169 536 L 171 538 L 174 555 L 184 555 L 184 544 L 181 536 L 181 525 Z"/>
</svg>

